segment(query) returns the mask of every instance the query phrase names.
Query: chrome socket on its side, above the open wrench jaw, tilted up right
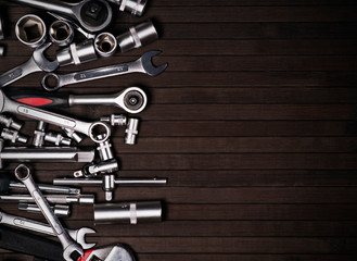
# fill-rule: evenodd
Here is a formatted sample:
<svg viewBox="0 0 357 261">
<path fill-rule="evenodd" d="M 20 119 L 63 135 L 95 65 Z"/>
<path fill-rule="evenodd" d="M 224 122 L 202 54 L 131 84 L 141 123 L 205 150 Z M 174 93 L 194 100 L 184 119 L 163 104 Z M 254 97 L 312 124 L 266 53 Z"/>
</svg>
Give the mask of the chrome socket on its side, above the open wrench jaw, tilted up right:
<svg viewBox="0 0 357 261">
<path fill-rule="evenodd" d="M 122 52 L 146 46 L 158 39 L 157 32 L 151 21 L 143 22 L 129 28 L 116 37 Z"/>
</svg>

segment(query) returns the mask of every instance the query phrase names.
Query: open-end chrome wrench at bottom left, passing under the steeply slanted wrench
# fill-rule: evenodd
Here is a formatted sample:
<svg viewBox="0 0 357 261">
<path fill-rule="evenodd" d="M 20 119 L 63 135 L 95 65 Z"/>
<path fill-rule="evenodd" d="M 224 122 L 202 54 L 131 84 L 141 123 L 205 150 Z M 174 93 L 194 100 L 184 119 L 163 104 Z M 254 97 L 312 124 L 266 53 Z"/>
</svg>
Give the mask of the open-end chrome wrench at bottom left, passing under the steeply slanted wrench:
<svg viewBox="0 0 357 261">
<path fill-rule="evenodd" d="M 11 225 L 14 227 L 24 228 L 27 231 L 39 232 L 39 233 L 50 235 L 50 236 L 55 236 L 52 227 L 49 226 L 48 224 L 44 224 L 44 223 L 41 223 L 38 221 L 34 221 L 34 220 L 28 220 L 28 219 L 21 217 L 21 216 L 16 216 L 16 215 L 12 215 L 12 214 L 8 214 L 8 213 L 1 212 L 1 211 L 0 211 L 0 223 Z M 89 248 L 92 248 L 95 246 L 94 243 L 92 243 L 92 244 L 86 243 L 86 234 L 95 233 L 94 229 L 92 229 L 90 227 L 81 227 L 79 229 L 66 229 L 66 231 L 67 231 L 68 235 L 71 236 L 71 238 L 74 239 L 76 243 L 80 244 L 80 246 L 84 249 L 89 249 Z"/>
</svg>

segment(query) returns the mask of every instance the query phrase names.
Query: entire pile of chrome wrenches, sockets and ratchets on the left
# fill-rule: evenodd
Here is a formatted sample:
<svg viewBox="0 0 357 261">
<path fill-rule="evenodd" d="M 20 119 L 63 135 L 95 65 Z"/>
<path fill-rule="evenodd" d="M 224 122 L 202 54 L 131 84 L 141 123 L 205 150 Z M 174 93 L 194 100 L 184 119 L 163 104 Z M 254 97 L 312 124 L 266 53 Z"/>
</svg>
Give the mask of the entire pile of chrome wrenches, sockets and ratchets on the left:
<svg viewBox="0 0 357 261">
<path fill-rule="evenodd" d="M 144 53 L 136 61 L 97 67 L 69 74 L 56 74 L 55 70 L 82 64 L 97 59 L 113 57 L 146 46 L 158 38 L 151 21 L 129 27 L 118 36 L 103 32 L 113 20 L 113 8 L 141 16 L 145 0 L 82 0 L 67 3 L 60 0 L 8 0 L 35 9 L 44 10 L 43 16 L 51 17 L 46 23 L 42 17 L 26 14 L 15 25 L 17 39 L 34 48 L 27 62 L 0 75 L 0 169 L 5 162 L 20 162 L 13 173 L 0 174 L 0 199 L 18 203 L 18 210 L 42 213 L 47 223 L 15 216 L 0 211 L 0 247 L 34 256 L 36 260 L 135 260 L 131 250 L 123 245 L 93 248 L 95 244 L 86 241 L 86 234 L 95 233 L 90 227 L 68 229 L 59 217 L 71 215 L 71 204 L 91 204 L 95 224 L 161 221 L 160 201 L 95 202 L 94 195 L 81 194 L 80 186 L 101 186 L 105 200 L 113 200 L 116 186 L 162 185 L 166 178 L 118 177 L 119 164 L 111 142 L 112 128 L 124 126 L 125 144 L 135 145 L 139 132 L 139 119 L 125 114 L 103 115 L 94 122 L 69 117 L 53 110 L 73 105 L 113 105 L 136 114 L 145 109 L 148 97 L 139 87 L 128 87 L 116 94 L 72 95 L 53 92 L 64 86 L 129 73 L 156 76 L 167 64 L 155 66 L 152 58 L 161 51 Z M 48 27 L 48 24 L 50 26 Z M 3 39 L 3 22 L 0 20 L 0 39 Z M 55 59 L 50 61 L 44 51 L 56 46 Z M 3 48 L 0 47 L 0 54 Z M 46 72 L 40 85 L 44 90 L 18 89 L 4 86 L 35 72 Z M 2 114 L 2 113 L 10 113 Z M 14 116 L 25 116 L 38 122 L 33 137 L 22 134 L 23 123 Z M 59 128 L 49 132 L 48 125 Z M 93 148 L 80 147 L 86 137 Z M 31 140 L 31 141 L 29 141 Z M 14 145 L 8 145 L 14 144 Z M 26 146 L 15 146 L 25 144 Z M 77 144 L 73 146 L 73 144 Z M 50 146 L 49 146 L 50 145 Z M 36 184 L 26 162 L 82 162 L 80 170 L 74 170 L 73 177 L 56 177 L 52 184 Z M 74 186 L 74 187 L 72 187 Z M 15 192 L 13 191 L 26 191 Z M 9 226 L 15 227 L 11 228 Z M 18 231 L 17 228 L 22 228 Z M 58 243 L 24 231 L 56 236 Z"/>
</svg>

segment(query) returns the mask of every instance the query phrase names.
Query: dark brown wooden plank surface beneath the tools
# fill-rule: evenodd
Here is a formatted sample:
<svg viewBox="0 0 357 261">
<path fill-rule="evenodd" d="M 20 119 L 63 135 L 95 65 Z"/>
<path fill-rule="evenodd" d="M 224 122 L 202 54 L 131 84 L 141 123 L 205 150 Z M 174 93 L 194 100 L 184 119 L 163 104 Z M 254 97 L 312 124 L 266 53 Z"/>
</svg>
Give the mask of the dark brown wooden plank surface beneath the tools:
<svg viewBox="0 0 357 261">
<path fill-rule="evenodd" d="M 157 76 L 126 75 L 62 91 L 112 94 L 144 87 L 138 145 L 112 139 L 122 177 L 167 177 L 162 187 L 122 187 L 115 201 L 165 202 L 164 221 L 95 226 L 99 246 L 128 244 L 140 261 L 310 261 L 357 259 L 357 5 L 332 0 L 149 0 L 141 18 L 118 14 L 111 32 L 153 18 L 161 39 L 73 72 L 131 61 L 158 49 Z M 1 73 L 31 50 L 14 36 L 26 13 L 9 11 Z M 39 87 L 42 74 L 12 86 Z M 62 112 L 82 120 L 123 113 L 111 107 Z M 25 120 L 25 119 L 23 119 Z M 36 122 L 26 120 L 31 134 Z M 55 127 L 52 127 L 56 129 Z M 92 145 L 89 140 L 85 145 Z M 12 171 L 16 164 L 8 164 Z M 31 164 L 39 182 L 81 164 Z M 85 188 L 104 197 L 100 188 Z M 16 211 L 1 202 L 7 212 Z M 71 228 L 93 227 L 91 207 L 74 206 Z M 1 251 L 1 260 L 31 260 Z"/>
</svg>

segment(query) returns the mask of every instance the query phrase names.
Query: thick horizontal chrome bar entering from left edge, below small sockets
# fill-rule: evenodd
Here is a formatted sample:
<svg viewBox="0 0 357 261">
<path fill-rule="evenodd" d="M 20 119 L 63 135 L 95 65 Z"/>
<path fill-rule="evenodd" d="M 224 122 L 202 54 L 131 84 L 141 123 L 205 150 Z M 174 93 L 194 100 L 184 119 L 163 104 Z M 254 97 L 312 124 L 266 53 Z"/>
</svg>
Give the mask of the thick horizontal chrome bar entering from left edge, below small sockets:
<svg viewBox="0 0 357 261">
<path fill-rule="evenodd" d="M 9 162 L 92 162 L 94 150 L 76 147 L 4 147 L 0 139 L 0 169 L 3 161 Z"/>
</svg>

